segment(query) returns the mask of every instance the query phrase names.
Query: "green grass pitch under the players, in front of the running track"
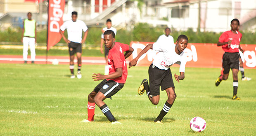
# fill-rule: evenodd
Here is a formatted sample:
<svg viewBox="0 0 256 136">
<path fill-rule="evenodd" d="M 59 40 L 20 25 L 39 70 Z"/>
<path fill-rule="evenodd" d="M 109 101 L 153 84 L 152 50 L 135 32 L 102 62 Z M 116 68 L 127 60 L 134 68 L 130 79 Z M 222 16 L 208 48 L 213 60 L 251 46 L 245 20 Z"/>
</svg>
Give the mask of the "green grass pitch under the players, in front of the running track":
<svg viewBox="0 0 256 136">
<path fill-rule="evenodd" d="M 177 67 L 171 69 L 178 73 Z M 255 70 L 245 70 L 252 80 L 239 80 L 241 101 L 233 101 L 231 75 L 215 87 L 219 68 L 186 68 L 185 80 L 174 82 L 177 98 L 164 124 L 155 124 L 167 100 L 166 92 L 160 92 L 157 106 L 145 94 L 139 96 L 137 87 L 148 78 L 147 67 L 133 67 L 128 69 L 123 89 L 112 100 L 105 100 L 122 124 L 112 125 L 98 107 L 95 122 L 83 123 L 87 96 L 100 83 L 92 80 L 92 73 L 103 72 L 104 66 L 83 65 L 79 80 L 69 78 L 68 65 L 0 64 L 0 135 L 256 135 Z M 207 122 L 202 133 L 190 130 L 189 122 L 195 116 Z"/>
</svg>

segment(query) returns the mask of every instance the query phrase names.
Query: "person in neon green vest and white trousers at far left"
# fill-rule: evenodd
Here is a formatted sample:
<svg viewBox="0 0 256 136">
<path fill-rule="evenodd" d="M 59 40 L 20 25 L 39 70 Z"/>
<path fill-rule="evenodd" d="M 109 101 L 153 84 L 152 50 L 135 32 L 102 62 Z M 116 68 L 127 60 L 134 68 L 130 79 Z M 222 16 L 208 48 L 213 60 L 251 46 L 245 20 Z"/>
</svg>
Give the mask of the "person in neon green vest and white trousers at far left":
<svg viewBox="0 0 256 136">
<path fill-rule="evenodd" d="M 31 53 L 31 63 L 35 62 L 36 59 L 36 21 L 32 19 L 32 13 L 28 12 L 28 19 L 23 22 L 23 30 L 21 36 L 21 42 L 23 42 L 23 60 L 24 63 L 28 61 L 28 45 Z"/>
</svg>

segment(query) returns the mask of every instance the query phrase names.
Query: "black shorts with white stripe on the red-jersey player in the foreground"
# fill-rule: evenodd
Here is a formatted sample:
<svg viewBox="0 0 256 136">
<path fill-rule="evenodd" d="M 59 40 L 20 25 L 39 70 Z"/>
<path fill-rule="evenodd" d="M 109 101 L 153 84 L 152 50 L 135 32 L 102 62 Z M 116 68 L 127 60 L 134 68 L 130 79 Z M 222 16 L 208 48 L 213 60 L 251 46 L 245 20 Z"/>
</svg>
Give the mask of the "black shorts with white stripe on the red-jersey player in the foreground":
<svg viewBox="0 0 256 136">
<path fill-rule="evenodd" d="M 106 96 L 106 98 L 111 98 L 111 96 L 121 90 L 123 86 L 124 84 L 117 83 L 113 80 L 103 80 L 93 89 L 93 91 L 96 93 L 100 91 L 104 96 Z"/>
</svg>

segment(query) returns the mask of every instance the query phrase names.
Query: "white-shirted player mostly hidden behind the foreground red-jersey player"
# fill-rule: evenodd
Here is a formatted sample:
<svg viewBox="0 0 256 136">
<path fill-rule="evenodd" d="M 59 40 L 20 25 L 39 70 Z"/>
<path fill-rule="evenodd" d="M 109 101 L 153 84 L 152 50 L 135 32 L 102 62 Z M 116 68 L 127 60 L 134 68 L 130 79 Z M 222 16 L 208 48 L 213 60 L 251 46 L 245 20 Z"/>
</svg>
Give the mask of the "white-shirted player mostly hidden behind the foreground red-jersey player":
<svg viewBox="0 0 256 136">
<path fill-rule="evenodd" d="M 105 55 L 105 59 L 106 59 L 106 66 L 105 66 L 105 75 L 108 75 L 109 74 L 109 66 L 107 64 L 107 58 L 108 58 L 108 55 L 109 55 L 109 48 L 105 47 L 104 46 L 104 49 L 105 51 L 103 52 L 103 33 L 106 31 L 106 30 L 112 30 L 115 35 L 116 35 L 116 28 L 112 27 L 112 21 L 110 19 L 107 19 L 106 21 L 106 26 L 107 27 L 104 27 L 101 31 L 102 31 L 102 34 L 101 34 L 101 41 L 100 41 L 100 52 L 104 55 Z"/>
</svg>

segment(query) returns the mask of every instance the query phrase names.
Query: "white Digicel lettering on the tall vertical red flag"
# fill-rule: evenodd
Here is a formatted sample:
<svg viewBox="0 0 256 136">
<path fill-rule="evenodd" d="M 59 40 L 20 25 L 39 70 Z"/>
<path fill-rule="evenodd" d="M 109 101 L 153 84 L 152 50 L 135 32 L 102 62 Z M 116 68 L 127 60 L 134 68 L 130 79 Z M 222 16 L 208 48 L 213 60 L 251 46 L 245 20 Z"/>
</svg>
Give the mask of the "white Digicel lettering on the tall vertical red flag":
<svg viewBox="0 0 256 136">
<path fill-rule="evenodd" d="M 62 9 L 60 9 L 61 0 L 53 0 L 50 7 L 53 7 L 52 14 L 50 14 L 50 31 L 59 33 L 59 21 L 63 16 Z"/>
</svg>

